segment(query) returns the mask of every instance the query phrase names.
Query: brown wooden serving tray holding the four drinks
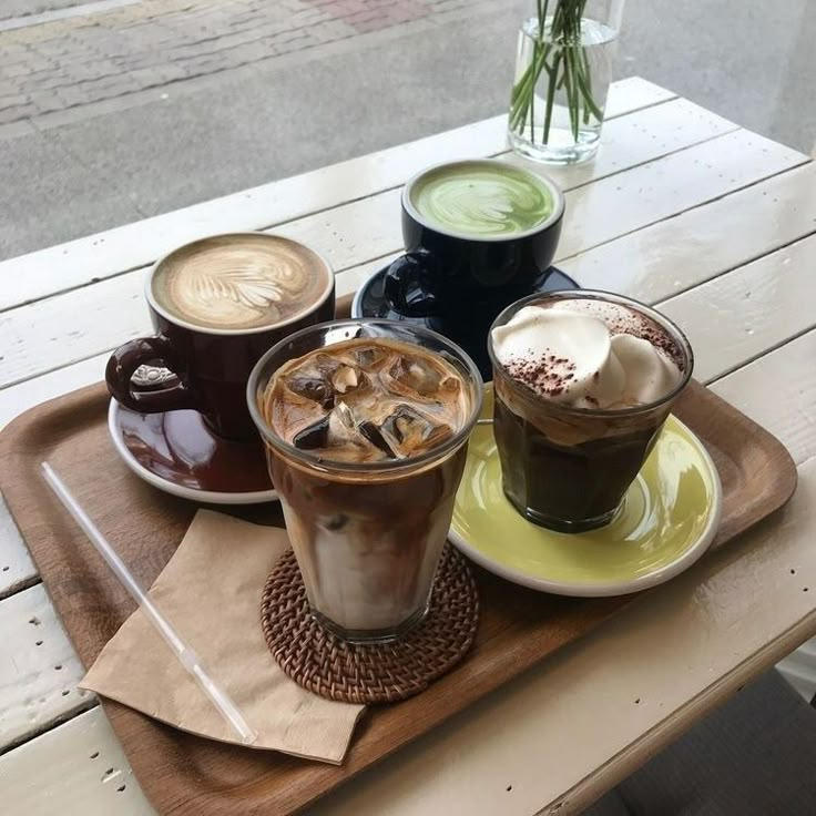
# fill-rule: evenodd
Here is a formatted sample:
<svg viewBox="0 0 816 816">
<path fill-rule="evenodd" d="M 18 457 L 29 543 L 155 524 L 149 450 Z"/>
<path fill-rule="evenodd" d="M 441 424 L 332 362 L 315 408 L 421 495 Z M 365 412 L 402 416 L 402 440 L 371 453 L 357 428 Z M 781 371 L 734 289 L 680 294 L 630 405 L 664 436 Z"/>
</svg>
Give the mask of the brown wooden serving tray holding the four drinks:
<svg viewBox="0 0 816 816">
<path fill-rule="evenodd" d="M 134 604 L 50 493 L 40 462 L 47 459 L 65 478 L 146 585 L 171 558 L 197 509 L 143 483 L 120 461 L 108 437 L 108 399 L 104 385 L 84 388 L 29 410 L 0 437 L 0 487 L 85 666 Z M 796 487 L 796 469 L 777 439 L 696 382 L 675 412 L 701 437 L 722 479 L 723 517 L 713 547 L 722 547 L 787 501 Z M 235 512 L 283 527 L 277 504 Z M 211 742 L 103 701 L 154 806 L 163 814 L 191 816 L 292 813 L 636 599 L 558 598 L 478 568 L 475 573 L 482 613 L 472 651 L 422 694 L 369 708 L 340 767 Z"/>
</svg>

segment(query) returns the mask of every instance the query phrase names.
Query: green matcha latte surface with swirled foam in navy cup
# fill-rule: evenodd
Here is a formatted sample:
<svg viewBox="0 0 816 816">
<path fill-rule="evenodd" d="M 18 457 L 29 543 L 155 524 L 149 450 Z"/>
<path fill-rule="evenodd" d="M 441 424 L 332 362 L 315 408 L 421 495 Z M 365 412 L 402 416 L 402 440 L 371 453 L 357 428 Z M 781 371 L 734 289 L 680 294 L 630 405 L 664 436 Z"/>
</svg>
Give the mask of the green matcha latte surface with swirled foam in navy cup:
<svg viewBox="0 0 816 816">
<path fill-rule="evenodd" d="M 555 210 L 544 181 L 500 162 L 459 162 L 428 171 L 410 204 L 429 226 L 473 238 L 510 238 L 543 224 Z"/>
</svg>

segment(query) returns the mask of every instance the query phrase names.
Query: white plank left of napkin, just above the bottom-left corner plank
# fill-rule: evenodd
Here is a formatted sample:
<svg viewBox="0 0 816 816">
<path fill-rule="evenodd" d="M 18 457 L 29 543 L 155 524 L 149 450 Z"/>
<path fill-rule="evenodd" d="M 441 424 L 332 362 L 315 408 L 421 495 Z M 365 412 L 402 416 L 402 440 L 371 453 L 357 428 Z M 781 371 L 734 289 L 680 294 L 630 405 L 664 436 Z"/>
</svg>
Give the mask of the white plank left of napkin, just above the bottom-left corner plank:
<svg viewBox="0 0 816 816">
<path fill-rule="evenodd" d="M 0 748 L 83 711 L 93 695 L 42 584 L 0 602 Z"/>
</svg>

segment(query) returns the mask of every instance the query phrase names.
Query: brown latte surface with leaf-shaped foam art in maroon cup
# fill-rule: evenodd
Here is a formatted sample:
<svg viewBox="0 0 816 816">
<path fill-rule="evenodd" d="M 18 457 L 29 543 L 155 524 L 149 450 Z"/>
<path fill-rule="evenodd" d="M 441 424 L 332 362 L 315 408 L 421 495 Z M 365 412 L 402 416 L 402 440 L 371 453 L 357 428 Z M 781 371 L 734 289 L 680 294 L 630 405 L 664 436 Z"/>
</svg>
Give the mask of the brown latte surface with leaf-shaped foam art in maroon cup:
<svg viewBox="0 0 816 816">
<path fill-rule="evenodd" d="M 297 318 L 325 298 L 330 276 L 316 253 L 287 238 L 215 236 L 169 255 L 151 293 L 176 319 L 246 330 Z"/>
</svg>

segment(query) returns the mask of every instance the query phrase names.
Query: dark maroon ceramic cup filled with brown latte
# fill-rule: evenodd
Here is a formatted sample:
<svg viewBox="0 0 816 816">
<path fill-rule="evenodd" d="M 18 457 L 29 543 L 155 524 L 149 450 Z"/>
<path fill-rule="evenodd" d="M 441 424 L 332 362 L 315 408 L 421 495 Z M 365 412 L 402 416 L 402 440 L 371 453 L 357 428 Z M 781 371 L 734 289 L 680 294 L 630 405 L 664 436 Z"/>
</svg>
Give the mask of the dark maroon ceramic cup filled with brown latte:
<svg viewBox="0 0 816 816">
<path fill-rule="evenodd" d="M 289 261 L 279 263 L 278 256 Z M 305 280 L 299 289 L 287 271 L 292 258 L 298 259 L 295 278 Z M 176 302 L 162 295 L 157 287 L 180 264 L 186 264 L 187 290 L 198 297 L 203 288 L 210 299 L 185 302 L 184 295 Z M 303 244 L 265 233 L 216 235 L 173 251 L 151 269 L 145 297 L 155 335 L 129 340 L 111 355 L 105 369 L 111 396 L 141 414 L 193 408 L 228 439 L 256 436 L 246 382 L 261 357 L 289 334 L 332 319 L 335 312 L 328 262 Z M 191 303 L 193 308 L 185 312 Z M 231 309 L 259 325 L 228 327 L 223 313 Z M 143 366 L 172 375 L 137 373 Z"/>
</svg>

